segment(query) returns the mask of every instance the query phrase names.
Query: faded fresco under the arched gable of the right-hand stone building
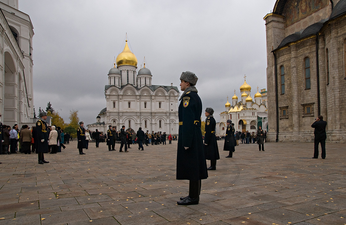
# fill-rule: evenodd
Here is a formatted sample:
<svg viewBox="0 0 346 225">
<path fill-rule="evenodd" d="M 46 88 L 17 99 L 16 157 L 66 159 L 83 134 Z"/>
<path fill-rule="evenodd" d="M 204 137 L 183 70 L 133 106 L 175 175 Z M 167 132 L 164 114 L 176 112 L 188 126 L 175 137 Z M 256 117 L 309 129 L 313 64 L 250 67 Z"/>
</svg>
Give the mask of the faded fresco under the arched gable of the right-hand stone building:
<svg viewBox="0 0 346 225">
<path fill-rule="evenodd" d="M 304 19 L 312 13 L 328 6 L 329 0 L 289 0 L 283 10 L 286 17 L 285 26 L 290 26 L 298 20 Z"/>
</svg>

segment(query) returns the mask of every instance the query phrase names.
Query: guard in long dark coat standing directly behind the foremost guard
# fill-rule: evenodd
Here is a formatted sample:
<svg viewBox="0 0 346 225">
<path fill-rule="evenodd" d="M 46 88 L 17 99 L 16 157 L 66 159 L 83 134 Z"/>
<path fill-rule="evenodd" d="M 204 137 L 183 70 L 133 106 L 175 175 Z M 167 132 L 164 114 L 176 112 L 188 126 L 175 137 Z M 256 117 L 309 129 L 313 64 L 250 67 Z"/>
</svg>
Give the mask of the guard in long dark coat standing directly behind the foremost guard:
<svg viewBox="0 0 346 225">
<path fill-rule="evenodd" d="M 213 117 L 214 110 L 212 108 L 206 108 L 206 125 L 204 134 L 204 153 L 206 159 L 210 160 L 210 167 L 208 170 L 216 170 L 216 160 L 220 159 L 219 148 L 217 146 L 215 127 L 216 121 Z"/>
</svg>

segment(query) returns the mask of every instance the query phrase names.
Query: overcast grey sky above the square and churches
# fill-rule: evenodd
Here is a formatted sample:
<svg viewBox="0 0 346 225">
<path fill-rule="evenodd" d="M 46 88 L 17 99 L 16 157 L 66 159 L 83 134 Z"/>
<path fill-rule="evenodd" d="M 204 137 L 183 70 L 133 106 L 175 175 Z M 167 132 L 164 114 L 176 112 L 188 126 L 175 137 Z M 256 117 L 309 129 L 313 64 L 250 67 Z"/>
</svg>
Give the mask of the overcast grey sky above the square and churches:
<svg viewBox="0 0 346 225">
<path fill-rule="evenodd" d="M 66 123 L 72 109 L 79 110 L 85 124 L 96 122 L 106 107 L 108 71 L 124 48 L 127 32 L 138 69 L 145 57 L 153 85 L 179 87 L 181 72 L 194 72 L 203 108 L 212 107 L 219 121 L 227 95 L 231 102 L 236 89 L 240 100 L 244 74 L 252 97 L 257 85 L 266 88 L 263 17 L 274 4 L 275 0 L 19 0 L 19 10 L 30 16 L 35 32 L 36 113 L 50 101 Z"/>
</svg>

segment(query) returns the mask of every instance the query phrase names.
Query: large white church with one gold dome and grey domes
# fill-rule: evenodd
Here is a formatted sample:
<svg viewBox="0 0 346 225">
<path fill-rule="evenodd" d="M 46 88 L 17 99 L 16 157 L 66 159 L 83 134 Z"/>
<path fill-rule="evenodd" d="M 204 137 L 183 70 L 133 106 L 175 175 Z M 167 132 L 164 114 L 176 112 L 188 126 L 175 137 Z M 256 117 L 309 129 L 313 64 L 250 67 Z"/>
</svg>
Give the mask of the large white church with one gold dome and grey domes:
<svg viewBox="0 0 346 225">
<path fill-rule="evenodd" d="M 88 125 L 92 131 L 106 133 L 111 125 L 120 130 L 166 132 L 178 134 L 179 89 L 171 85 L 153 85 L 152 73 L 145 67 L 138 70 L 137 58 L 125 42 L 124 50 L 117 56 L 114 67 L 108 73 L 108 85 L 104 87 L 106 108 Z"/>
</svg>

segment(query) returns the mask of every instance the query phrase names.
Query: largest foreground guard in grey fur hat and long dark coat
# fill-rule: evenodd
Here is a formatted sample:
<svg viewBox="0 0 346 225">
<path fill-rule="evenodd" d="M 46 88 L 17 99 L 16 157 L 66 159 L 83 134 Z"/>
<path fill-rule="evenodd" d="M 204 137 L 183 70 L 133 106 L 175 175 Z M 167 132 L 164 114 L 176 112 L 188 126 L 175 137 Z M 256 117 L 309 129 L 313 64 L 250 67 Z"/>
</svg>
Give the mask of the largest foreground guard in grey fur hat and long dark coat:
<svg viewBox="0 0 346 225">
<path fill-rule="evenodd" d="M 190 71 L 180 76 L 181 95 L 178 109 L 179 139 L 176 158 L 176 179 L 189 180 L 189 195 L 181 197 L 179 205 L 197 205 L 201 179 L 208 178 L 201 131 L 202 101 L 195 85 L 198 78 Z"/>
</svg>

